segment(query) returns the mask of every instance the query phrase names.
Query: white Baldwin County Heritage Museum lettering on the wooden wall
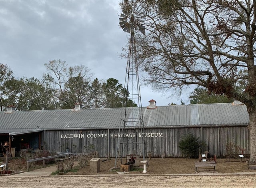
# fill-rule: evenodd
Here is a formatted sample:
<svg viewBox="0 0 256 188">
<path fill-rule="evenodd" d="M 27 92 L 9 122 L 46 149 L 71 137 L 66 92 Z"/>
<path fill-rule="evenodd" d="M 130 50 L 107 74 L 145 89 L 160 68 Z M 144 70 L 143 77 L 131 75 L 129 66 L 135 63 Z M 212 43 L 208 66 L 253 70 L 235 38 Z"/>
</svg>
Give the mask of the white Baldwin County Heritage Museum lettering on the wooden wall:
<svg viewBox="0 0 256 188">
<path fill-rule="evenodd" d="M 87 138 L 107 138 L 108 134 L 87 134 Z M 130 133 L 130 134 L 110 134 L 110 138 L 125 137 L 163 137 L 163 133 Z M 84 138 L 84 134 L 61 134 L 60 138 Z"/>
</svg>

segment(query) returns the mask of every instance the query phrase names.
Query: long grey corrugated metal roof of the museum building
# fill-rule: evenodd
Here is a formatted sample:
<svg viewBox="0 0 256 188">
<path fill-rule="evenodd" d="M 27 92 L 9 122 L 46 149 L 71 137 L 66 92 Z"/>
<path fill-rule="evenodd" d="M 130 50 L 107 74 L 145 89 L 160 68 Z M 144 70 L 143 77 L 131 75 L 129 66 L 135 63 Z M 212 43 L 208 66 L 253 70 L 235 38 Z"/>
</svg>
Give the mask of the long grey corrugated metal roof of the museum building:
<svg viewBox="0 0 256 188">
<path fill-rule="evenodd" d="M 133 109 L 133 110 L 132 110 Z M 38 110 L 0 112 L 0 133 L 7 130 L 102 129 L 119 128 L 123 108 L 73 110 Z M 182 127 L 248 125 L 246 106 L 198 104 L 142 108 L 144 127 Z M 127 117 L 138 117 L 138 108 L 128 108 Z M 128 124 L 129 126 L 129 124 Z M 131 126 L 131 124 L 130 124 Z M 134 124 L 133 124 L 134 126 Z M 9 132 L 10 133 L 10 132 Z"/>
</svg>

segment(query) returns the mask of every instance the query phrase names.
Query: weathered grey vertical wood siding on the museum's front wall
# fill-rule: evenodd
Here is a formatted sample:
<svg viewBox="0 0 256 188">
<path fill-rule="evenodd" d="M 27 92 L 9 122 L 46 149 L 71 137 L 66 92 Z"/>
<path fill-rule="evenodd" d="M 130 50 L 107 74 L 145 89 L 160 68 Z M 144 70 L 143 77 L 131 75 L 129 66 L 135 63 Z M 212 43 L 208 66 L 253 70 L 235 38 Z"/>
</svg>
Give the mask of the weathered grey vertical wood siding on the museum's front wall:
<svg viewBox="0 0 256 188">
<path fill-rule="evenodd" d="M 44 131 L 42 135 L 42 143 L 45 148 L 52 151 L 87 153 L 90 151 L 98 151 L 100 157 L 106 157 L 110 152 L 111 157 L 116 156 L 116 144 L 118 138 L 113 137 L 118 134 L 119 130 L 49 130 Z M 135 130 L 135 142 L 142 142 L 142 138 L 138 137 L 140 130 Z M 194 134 L 206 143 L 204 150 L 208 150 L 209 155 L 216 154 L 218 157 L 225 157 L 226 143 L 234 142 L 241 148 L 246 148 L 246 153 L 250 151 L 249 132 L 247 126 L 233 127 L 194 127 L 194 128 L 145 128 L 144 133 L 159 133 L 162 137 L 144 137 L 146 142 L 146 150 L 152 153 L 152 157 L 161 157 L 164 153 L 165 157 L 183 157 L 178 143 L 182 137 L 187 134 Z M 78 138 L 61 138 L 61 135 L 77 135 Z M 80 136 L 79 136 L 80 135 Z M 83 137 L 81 136 L 83 135 Z M 112 136 L 110 136 L 112 135 Z M 80 138 L 79 138 L 80 137 Z M 88 138 L 89 137 L 89 138 Z M 91 138 L 93 137 L 93 138 Z M 96 138 L 94 138 L 96 137 Z M 125 140 L 124 140 L 125 141 Z M 142 144 L 138 144 L 132 148 L 127 146 L 124 155 L 136 154 L 142 156 Z"/>
</svg>

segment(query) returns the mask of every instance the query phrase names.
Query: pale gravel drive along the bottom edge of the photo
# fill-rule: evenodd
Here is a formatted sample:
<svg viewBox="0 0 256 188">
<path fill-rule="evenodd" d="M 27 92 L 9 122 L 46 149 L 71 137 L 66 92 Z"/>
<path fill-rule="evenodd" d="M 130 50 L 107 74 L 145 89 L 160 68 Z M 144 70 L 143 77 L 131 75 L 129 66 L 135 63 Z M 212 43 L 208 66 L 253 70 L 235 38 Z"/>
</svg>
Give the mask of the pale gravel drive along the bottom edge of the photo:
<svg viewBox="0 0 256 188">
<path fill-rule="evenodd" d="M 2 176 L 1 187 L 256 187 L 256 175 Z"/>
</svg>

